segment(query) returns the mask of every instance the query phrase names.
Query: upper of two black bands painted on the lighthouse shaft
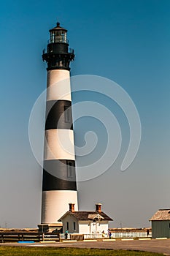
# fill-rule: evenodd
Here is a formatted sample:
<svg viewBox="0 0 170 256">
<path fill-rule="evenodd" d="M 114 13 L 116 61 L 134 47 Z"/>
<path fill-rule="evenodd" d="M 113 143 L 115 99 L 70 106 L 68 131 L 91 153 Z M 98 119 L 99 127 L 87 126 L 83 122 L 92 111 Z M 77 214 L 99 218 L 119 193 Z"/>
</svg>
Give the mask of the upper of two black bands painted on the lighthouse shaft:
<svg viewBox="0 0 170 256">
<path fill-rule="evenodd" d="M 45 129 L 73 129 L 71 101 L 47 101 Z"/>
</svg>

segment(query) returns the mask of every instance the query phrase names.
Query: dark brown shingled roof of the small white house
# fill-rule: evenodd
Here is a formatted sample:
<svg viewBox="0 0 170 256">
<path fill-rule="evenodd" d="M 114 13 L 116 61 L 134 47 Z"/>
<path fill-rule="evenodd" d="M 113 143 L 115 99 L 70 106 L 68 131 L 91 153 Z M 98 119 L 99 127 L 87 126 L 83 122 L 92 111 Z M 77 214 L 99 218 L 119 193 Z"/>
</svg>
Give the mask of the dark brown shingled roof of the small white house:
<svg viewBox="0 0 170 256">
<path fill-rule="evenodd" d="M 100 219 L 100 221 L 112 221 L 112 219 L 107 215 L 104 214 L 103 211 L 98 213 L 98 211 L 67 211 L 66 214 L 64 214 L 58 221 L 61 221 L 67 214 L 70 214 L 74 217 L 76 217 L 77 220 L 93 220 L 94 218 Z M 100 218 L 101 217 L 101 218 Z"/>
</svg>

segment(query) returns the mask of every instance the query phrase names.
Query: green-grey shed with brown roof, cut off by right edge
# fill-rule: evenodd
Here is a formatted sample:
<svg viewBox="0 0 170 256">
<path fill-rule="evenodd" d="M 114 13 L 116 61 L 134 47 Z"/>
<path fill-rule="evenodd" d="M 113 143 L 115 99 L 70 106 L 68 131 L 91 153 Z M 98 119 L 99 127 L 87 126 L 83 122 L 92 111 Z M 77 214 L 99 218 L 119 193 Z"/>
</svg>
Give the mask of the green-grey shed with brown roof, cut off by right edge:
<svg viewBox="0 0 170 256">
<path fill-rule="evenodd" d="M 152 238 L 170 238 L 170 209 L 158 210 L 150 219 Z"/>
</svg>

